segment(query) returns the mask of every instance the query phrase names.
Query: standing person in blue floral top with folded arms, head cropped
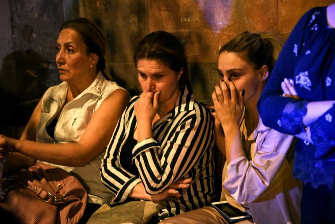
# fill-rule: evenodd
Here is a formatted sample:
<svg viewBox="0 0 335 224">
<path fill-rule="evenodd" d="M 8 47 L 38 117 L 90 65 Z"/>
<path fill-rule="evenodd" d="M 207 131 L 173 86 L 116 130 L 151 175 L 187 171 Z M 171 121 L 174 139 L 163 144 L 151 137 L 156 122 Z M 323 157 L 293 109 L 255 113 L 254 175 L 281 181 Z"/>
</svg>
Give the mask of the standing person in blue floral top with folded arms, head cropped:
<svg viewBox="0 0 335 224">
<path fill-rule="evenodd" d="M 298 138 L 293 173 L 304 183 L 301 223 L 335 223 L 334 87 L 332 4 L 300 18 L 258 102 L 265 126 Z"/>
</svg>

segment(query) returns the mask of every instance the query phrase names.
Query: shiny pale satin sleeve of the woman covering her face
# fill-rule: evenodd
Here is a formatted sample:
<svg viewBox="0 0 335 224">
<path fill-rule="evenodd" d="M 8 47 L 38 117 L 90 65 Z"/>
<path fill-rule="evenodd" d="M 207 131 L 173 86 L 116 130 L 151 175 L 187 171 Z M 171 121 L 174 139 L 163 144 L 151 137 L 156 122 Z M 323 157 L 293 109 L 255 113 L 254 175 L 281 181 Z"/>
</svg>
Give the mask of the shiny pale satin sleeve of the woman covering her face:
<svg viewBox="0 0 335 224">
<path fill-rule="evenodd" d="M 275 176 L 278 180 L 282 179 L 278 178 L 279 175 L 287 175 L 282 172 L 285 170 L 282 164 L 292 140 L 293 136 L 270 129 L 264 141 L 256 141 L 261 145 L 256 144 L 253 160 L 240 156 L 228 164 L 223 187 L 242 205 L 254 201 L 269 187 Z"/>
</svg>

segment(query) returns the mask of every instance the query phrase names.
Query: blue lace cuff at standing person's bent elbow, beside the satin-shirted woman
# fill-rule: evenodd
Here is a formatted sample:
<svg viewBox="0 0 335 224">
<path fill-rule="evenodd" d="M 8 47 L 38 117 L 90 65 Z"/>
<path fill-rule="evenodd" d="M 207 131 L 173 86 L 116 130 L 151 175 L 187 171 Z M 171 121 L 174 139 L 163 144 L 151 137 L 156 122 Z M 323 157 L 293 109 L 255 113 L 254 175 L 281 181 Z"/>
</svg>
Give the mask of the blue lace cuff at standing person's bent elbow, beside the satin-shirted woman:
<svg viewBox="0 0 335 224">
<path fill-rule="evenodd" d="M 294 100 L 286 104 L 281 114 L 281 127 L 287 133 L 299 134 L 304 131 L 303 117 L 307 113 L 305 100 Z"/>
</svg>

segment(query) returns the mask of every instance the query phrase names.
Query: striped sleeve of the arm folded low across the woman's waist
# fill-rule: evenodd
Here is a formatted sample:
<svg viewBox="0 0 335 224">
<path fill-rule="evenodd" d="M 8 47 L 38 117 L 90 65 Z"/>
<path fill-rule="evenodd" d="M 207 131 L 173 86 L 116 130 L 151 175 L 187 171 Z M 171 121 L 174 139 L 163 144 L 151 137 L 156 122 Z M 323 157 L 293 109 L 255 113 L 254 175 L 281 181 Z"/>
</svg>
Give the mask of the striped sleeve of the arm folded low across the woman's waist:
<svg viewBox="0 0 335 224">
<path fill-rule="evenodd" d="M 100 166 L 102 183 L 115 194 L 112 199 L 113 203 L 125 201 L 136 184 L 141 182 L 138 176 L 123 169 L 118 162 L 118 154 L 126 132 L 127 122 L 130 117 L 135 116 L 133 114 L 133 103 L 136 99 L 136 97 L 131 99 L 130 106 L 120 117 Z"/>
</svg>

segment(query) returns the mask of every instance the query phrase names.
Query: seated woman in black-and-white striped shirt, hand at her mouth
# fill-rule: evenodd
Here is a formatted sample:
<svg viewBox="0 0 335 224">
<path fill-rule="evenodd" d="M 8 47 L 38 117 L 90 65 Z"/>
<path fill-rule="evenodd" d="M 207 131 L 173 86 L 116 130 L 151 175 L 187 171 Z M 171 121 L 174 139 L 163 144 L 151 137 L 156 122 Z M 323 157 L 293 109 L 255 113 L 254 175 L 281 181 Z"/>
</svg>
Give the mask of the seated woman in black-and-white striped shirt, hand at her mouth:
<svg viewBox="0 0 335 224">
<path fill-rule="evenodd" d="M 111 203 L 169 198 L 159 220 L 208 205 L 214 197 L 213 121 L 194 100 L 181 42 L 164 31 L 150 33 L 134 62 L 143 92 L 121 116 L 100 168 L 115 194 Z"/>
</svg>

